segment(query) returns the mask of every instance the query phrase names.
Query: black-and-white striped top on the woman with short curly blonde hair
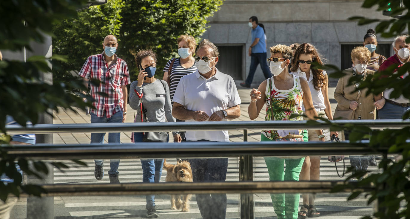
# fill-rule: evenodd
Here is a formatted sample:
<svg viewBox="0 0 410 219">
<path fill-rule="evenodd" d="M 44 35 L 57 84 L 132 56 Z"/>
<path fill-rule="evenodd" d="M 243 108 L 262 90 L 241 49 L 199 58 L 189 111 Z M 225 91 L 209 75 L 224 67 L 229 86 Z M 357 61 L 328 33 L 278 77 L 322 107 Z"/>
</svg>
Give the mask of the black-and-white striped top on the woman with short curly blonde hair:
<svg viewBox="0 0 410 219">
<path fill-rule="evenodd" d="M 170 59 L 164 68 L 164 71 L 167 72 L 169 69 L 169 66 L 171 65 L 171 62 L 174 58 Z M 174 104 L 173 97 L 175 94 L 175 90 L 177 89 L 178 83 L 181 80 L 181 78 L 187 74 L 190 74 L 192 72 L 195 72 L 197 70 L 196 65 L 192 65 L 189 68 L 184 68 L 181 65 L 180 58 L 176 58 L 174 64 L 172 65 L 171 69 L 171 84 L 169 86 L 169 96 L 171 97 L 171 104 Z"/>
</svg>

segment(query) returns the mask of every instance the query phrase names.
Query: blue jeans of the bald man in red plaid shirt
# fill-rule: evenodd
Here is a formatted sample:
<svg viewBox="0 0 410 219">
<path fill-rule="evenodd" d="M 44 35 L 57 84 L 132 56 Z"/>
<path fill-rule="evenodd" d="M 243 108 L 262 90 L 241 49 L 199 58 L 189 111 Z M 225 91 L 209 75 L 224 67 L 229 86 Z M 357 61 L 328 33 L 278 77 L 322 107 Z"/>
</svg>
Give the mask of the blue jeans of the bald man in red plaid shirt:
<svg viewBox="0 0 410 219">
<path fill-rule="evenodd" d="M 123 122 L 123 111 L 118 111 L 111 118 L 98 117 L 94 113 L 90 113 L 91 123 L 112 123 L 112 122 Z M 91 143 L 104 143 L 105 133 L 91 133 Z M 120 133 L 108 133 L 108 143 L 120 143 Z M 104 160 L 94 160 L 96 165 L 102 165 Z M 120 159 L 110 159 L 109 160 L 109 171 L 108 174 L 118 174 L 118 166 L 120 166 Z"/>
</svg>

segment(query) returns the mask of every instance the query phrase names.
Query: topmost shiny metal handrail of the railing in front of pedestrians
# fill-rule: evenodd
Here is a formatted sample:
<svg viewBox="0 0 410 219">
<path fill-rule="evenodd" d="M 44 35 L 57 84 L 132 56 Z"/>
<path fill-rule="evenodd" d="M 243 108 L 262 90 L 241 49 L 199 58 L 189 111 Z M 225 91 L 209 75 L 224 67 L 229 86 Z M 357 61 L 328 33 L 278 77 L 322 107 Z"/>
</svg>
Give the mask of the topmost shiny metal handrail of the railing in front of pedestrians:
<svg viewBox="0 0 410 219">
<path fill-rule="evenodd" d="M 7 134 L 53 134 L 72 132 L 121 131 L 193 131 L 193 130 L 243 130 L 243 129 L 329 129 L 332 125 L 365 125 L 371 129 L 397 129 L 410 126 L 410 120 L 331 120 L 317 123 L 309 121 L 230 121 L 230 122 L 127 122 L 84 124 L 36 124 L 22 127 L 6 125 Z"/>
</svg>

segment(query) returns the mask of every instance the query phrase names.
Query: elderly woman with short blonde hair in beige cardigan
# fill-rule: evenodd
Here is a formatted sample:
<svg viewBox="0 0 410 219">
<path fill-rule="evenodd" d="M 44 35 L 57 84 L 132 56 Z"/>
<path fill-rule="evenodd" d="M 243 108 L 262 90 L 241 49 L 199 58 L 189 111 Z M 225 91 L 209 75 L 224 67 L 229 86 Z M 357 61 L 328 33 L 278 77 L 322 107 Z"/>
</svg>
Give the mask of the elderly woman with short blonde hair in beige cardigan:
<svg viewBox="0 0 410 219">
<path fill-rule="evenodd" d="M 358 46 L 352 50 L 350 55 L 354 67 L 345 69 L 344 73 L 346 75 L 339 78 L 337 82 L 334 96 L 337 106 L 333 118 L 374 120 L 376 118 L 375 109 L 376 106 L 381 104 L 380 101 L 375 103 L 373 94 L 366 96 L 367 89 L 353 92 L 362 80 L 368 75 L 374 74 L 374 71 L 366 69 L 367 63 L 371 59 L 371 53 L 366 47 Z M 349 78 L 356 75 L 362 76 L 360 81 L 349 85 Z M 349 131 L 344 131 L 344 137 L 349 139 Z M 350 164 L 355 166 L 356 170 L 366 171 L 369 165 L 369 157 L 350 156 Z"/>
</svg>

